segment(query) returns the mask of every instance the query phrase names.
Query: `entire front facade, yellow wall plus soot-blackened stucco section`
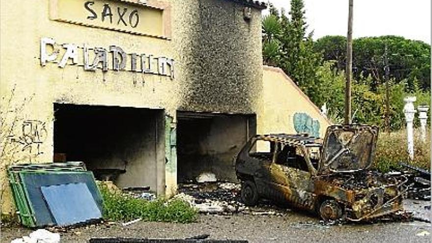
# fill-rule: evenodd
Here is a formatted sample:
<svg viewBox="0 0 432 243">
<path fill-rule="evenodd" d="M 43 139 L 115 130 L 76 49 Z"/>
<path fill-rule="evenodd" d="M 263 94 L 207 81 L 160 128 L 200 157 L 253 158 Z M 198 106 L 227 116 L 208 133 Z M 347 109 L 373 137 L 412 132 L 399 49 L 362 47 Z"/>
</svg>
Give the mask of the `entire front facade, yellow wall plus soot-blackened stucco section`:
<svg viewBox="0 0 432 243">
<path fill-rule="evenodd" d="M 1 2 L 0 96 L 6 97 L 1 101 L 1 106 L 9 107 L 5 110 L 11 110 L 10 108 L 19 108 L 25 103 L 23 110 L 7 112 L 10 121 L 18 117 L 15 129 L 10 135 L 17 140 L 23 138 L 22 126 L 26 120 L 40 124 L 37 144 L 14 143 L 13 145 L 18 146 L 18 150 L 25 148 L 25 151 L 16 155 L 14 160 L 1 157 L 0 184 L 7 189 L 1 199 L 2 212 L 10 212 L 13 208 L 4 165 L 11 161 L 52 162 L 53 160 L 54 103 L 163 108 L 174 122 L 177 109 L 183 107 L 194 110 L 195 105 L 199 105 L 199 109 L 206 111 L 247 114 L 258 112 L 257 104 L 258 97 L 261 95 L 262 78 L 259 9 L 253 9 L 252 19 L 245 21 L 244 6 L 235 1 L 147 0 L 147 3 L 152 6 L 158 5 L 162 8 L 169 6 L 170 15 L 165 14 L 168 11 L 164 11 L 162 16 L 155 12 L 147 21 L 159 22 L 146 25 L 137 31 L 139 33 L 134 34 L 130 32 L 134 31 L 131 28 L 122 27 L 117 31 L 108 23 L 99 23 L 91 27 L 90 20 L 82 20 L 85 14 L 74 15 L 74 11 L 84 11 L 83 8 L 74 5 L 78 1 L 84 2 L 83 0 L 26 0 L 20 4 L 15 1 Z M 97 9 L 100 18 L 101 0 L 94 1 L 99 2 L 95 3 L 93 8 Z M 57 7 L 62 8 L 57 16 L 54 16 L 55 18 L 50 2 L 60 2 Z M 139 6 L 137 5 L 139 0 L 105 2 L 114 4 L 111 8 L 114 16 L 117 14 L 115 4 L 122 8 Z M 205 7 L 200 8 L 203 4 Z M 65 7 L 68 9 L 65 10 Z M 212 14 L 213 19 L 209 19 L 208 14 Z M 56 18 L 61 21 L 54 20 Z M 73 22 L 77 20 L 75 18 L 81 18 L 82 21 L 79 21 L 81 24 L 65 22 Z M 160 24 L 161 19 L 164 21 L 162 24 Z M 113 18 L 114 22 L 116 20 Z M 141 20 L 146 21 L 145 17 Z M 223 24 L 224 28 L 215 25 L 216 20 L 219 25 Z M 209 25 L 211 28 L 208 27 Z M 221 34 L 221 29 L 229 30 L 230 35 Z M 207 32 L 200 33 L 201 30 Z M 143 35 L 142 32 L 148 32 L 148 35 Z M 105 49 L 110 45 L 116 45 L 128 54 L 153 54 L 155 57 L 173 58 L 176 62 L 175 79 L 129 71 L 103 72 L 98 69 L 89 72 L 84 71 L 82 65 L 66 65 L 64 68 L 59 68 L 56 63 L 48 63 L 46 66 L 41 66 L 40 40 L 43 37 L 53 38 L 60 45 L 68 43 L 82 47 L 86 44 L 91 48 Z M 232 41 L 234 37 L 235 41 Z M 210 49 L 220 54 L 219 58 L 227 62 L 223 65 L 217 62 L 217 65 L 214 65 L 215 56 L 206 55 L 207 50 Z M 61 46 L 59 51 L 57 61 L 64 53 Z M 82 49 L 79 49 L 79 53 L 81 52 Z M 232 55 L 224 56 L 225 53 Z M 112 54 L 108 53 L 109 67 L 112 66 L 111 56 Z M 82 63 L 82 54 L 79 54 L 79 58 L 79 63 Z M 202 68 L 203 65 L 209 64 L 212 64 L 214 69 Z M 129 62 L 127 65 L 130 65 Z M 202 70 L 206 71 L 201 72 Z M 201 74 L 209 78 L 203 79 Z M 222 87 L 219 84 L 226 85 L 226 88 L 221 88 L 221 93 L 216 93 L 217 90 L 212 85 L 216 88 Z M 13 89 L 15 95 L 9 106 L 6 100 Z M 224 92 L 228 92 L 229 96 Z M 206 94 L 209 93 L 216 94 L 219 101 L 216 103 L 210 100 L 211 102 L 201 102 L 202 104 L 199 102 L 201 100 L 195 102 L 197 100 L 195 97 L 208 98 Z M 232 97 L 235 99 L 231 99 Z M 233 104 L 236 105 L 235 108 Z M 172 126 L 175 128 L 175 123 Z M 3 144 L 0 144 L 0 147 L 1 145 Z M 165 166 L 175 167 L 175 164 L 170 165 L 169 162 Z M 158 167 L 157 176 L 163 178 L 167 193 L 176 190 L 176 170 L 164 170 Z"/>
</svg>

